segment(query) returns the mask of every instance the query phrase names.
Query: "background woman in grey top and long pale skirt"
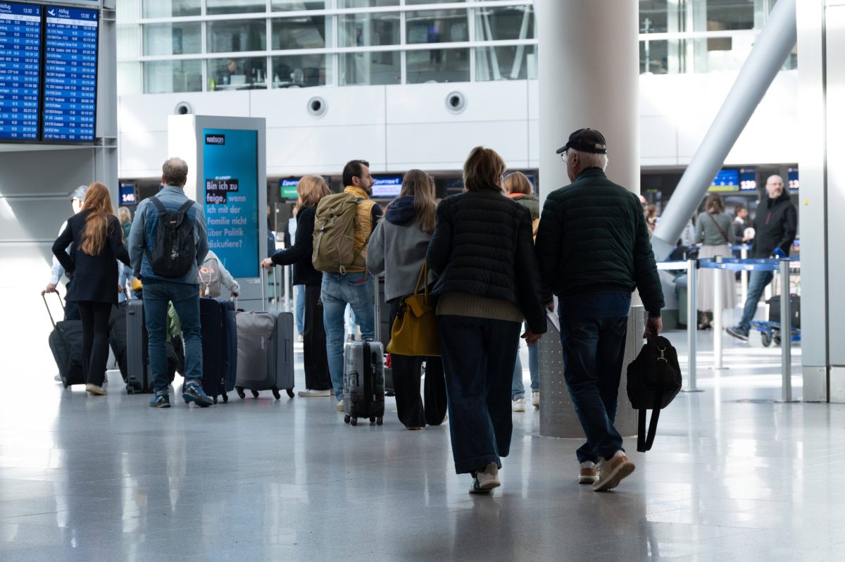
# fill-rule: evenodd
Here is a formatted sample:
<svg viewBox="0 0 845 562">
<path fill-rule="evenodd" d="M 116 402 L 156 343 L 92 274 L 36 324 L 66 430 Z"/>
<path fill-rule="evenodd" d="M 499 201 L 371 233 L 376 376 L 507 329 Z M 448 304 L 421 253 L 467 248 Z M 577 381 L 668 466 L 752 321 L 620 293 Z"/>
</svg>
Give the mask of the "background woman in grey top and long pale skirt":
<svg viewBox="0 0 845 562">
<path fill-rule="evenodd" d="M 695 221 L 695 243 L 703 244 L 699 250 L 698 257 L 722 258 L 733 257 L 731 245 L 734 243 L 733 224 L 731 217 L 725 212 L 725 202 L 722 195 L 710 194 L 704 204 L 704 212 L 700 213 Z M 698 309 L 699 309 L 699 330 L 711 328 L 711 318 L 716 303 L 713 301 L 713 285 L 716 283 L 716 276 L 722 276 L 722 292 L 719 300 L 722 310 L 733 309 L 736 306 L 735 276 L 731 270 L 708 270 L 701 269 L 698 272 Z"/>
</svg>

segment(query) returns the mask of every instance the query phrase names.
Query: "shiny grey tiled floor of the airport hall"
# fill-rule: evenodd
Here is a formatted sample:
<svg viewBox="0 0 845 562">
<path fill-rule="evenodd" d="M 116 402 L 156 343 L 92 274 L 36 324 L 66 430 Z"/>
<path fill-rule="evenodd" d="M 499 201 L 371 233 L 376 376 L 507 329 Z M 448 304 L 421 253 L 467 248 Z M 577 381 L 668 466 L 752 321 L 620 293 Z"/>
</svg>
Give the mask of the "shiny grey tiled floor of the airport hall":
<svg viewBox="0 0 845 562">
<path fill-rule="evenodd" d="M 845 406 L 772 403 L 759 342 L 726 342 L 714 377 L 710 337 L 705 391 L 664 412 L 650 453 L 628 441 L 637 470 L 608 494 L 575 483 L 580 442 L 539 437 L 536 411 L 478 497 L 448 427 L 404 431 L 390 399 L 383 427 L 352 428 L 329 399 L 157 411 L 117 373 L 91 397 L 4 372 L 0 560 L 845 559 Z"/>
</svg>

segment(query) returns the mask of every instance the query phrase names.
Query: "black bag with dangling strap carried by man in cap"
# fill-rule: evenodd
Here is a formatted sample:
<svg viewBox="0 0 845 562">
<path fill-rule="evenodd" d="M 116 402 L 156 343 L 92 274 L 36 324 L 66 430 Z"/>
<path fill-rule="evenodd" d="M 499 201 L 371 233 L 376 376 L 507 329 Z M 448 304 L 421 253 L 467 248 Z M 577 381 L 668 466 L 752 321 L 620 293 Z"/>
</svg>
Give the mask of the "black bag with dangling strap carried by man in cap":
<svg viewBox="0 0 845 562">
<path fill-rule="evenodd" d="M 636 450 L 651 449 L 657 432 L 660 411 L 681 390 L 678 352 L 663 336 L 651 338 L 634 361 L 628 365 L 628 399 L 637 413 Z M 651 412 L 646 435 L 646 410 Z"/>
</svg>

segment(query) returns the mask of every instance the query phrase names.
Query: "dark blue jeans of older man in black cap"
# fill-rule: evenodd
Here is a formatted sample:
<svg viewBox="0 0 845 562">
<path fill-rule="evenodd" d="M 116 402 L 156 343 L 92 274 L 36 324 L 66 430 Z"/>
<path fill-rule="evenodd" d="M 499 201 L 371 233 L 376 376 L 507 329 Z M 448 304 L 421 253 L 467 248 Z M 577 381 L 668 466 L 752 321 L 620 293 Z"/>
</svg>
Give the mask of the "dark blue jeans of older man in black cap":
<svg viewBox="0 0 845 562">
<path fill-rule="evenodd" d="M 613 427 L 628 331 L 630 296 L 597 293 L 559 299 L 564 379 L 586 435 L 578 461 L 598 462 L 622 448 Z"/>
</svg>

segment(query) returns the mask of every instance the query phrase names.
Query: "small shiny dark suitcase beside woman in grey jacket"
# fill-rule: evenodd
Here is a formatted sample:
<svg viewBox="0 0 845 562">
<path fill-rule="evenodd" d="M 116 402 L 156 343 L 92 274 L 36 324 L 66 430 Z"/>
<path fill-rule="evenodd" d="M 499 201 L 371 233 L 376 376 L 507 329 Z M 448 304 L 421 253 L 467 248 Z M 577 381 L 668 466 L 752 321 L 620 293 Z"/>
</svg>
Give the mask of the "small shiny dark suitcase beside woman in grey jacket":
<svg viewBox="0 0 845 562">
<path fill-rule="evenodd" d="M 343 421 L 358 417 L 382 424 L 384 418 L 384 349 L 379 341 L 355 341 L 343 349 Z"/>
</svg>

